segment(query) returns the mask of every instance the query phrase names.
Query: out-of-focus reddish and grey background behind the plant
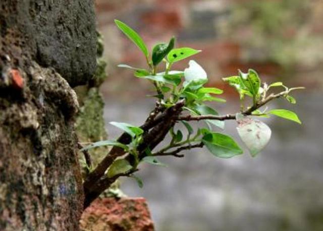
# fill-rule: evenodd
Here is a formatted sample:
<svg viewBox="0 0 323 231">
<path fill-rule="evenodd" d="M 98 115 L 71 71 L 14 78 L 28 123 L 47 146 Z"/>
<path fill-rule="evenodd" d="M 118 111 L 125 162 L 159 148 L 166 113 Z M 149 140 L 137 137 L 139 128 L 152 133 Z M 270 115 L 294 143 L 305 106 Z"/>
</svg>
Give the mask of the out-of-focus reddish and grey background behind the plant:
<svg viewBox="0 0 323 231">
<path fill-rule="evenodd" d="M 256 158 L 247 151 L 220 159 L 204 149 L 185 158 L 160 158 L 167 168 L 142 165 L 144 181 L 123 180 L 129 196 L 145 197 L 158 231 L 323 230 L 323 1 L 322 0 L 96 0 L 109 77 L 101 87 L 105 122 L 141 125 L 154 106 L 151 87 L 118 64 L 145 67 L 144 56 L 115 26 L 136 29 L 148 47 L 177 37 L 195 55 L 209 86 L 225 90 L 222 113 L 239 109 L 238 95 L 222 77 L 255 69 L 267 82 L 305 86 L 297 105 L 271 107 L 298 113 L 303 125 L 272 117 L 270 144 Z M 177 70 L 188 60 L 174 65 Z M 235 123 L 225 132 L 237 138 Z M 107 126 L 111 139 L 120 131 Z M 237 141 L 241 144 L 240 140 Z"/>
</svg>

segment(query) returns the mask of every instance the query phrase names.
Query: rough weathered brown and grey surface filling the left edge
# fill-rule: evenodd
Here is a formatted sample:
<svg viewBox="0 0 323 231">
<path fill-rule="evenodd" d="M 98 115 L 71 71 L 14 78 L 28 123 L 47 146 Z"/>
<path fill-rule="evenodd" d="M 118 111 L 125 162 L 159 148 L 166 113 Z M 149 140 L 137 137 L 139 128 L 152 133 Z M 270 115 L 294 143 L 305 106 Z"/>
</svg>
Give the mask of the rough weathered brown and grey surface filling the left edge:
<svg viewBox="0 0 323 231">
<path fill-rule="evenodd" d="M 78 230 L 71 88 L 96 66 L 90 0 L 0 1 L 0 230 Z"/>
</svg>

